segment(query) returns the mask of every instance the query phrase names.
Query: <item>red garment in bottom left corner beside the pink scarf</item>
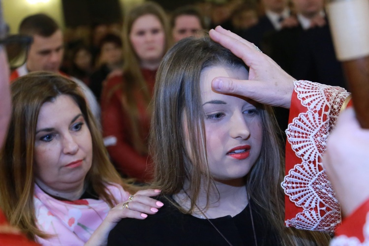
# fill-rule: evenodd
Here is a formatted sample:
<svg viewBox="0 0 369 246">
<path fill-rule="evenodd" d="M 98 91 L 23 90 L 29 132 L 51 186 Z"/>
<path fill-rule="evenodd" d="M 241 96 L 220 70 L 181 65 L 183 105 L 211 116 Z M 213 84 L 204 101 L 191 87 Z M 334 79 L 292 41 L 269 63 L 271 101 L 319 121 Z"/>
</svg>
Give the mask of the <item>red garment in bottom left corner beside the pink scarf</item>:
<svg viewBox="0 0 369 246">
<path fill-rule="evenodd" d="M 1 246 L 37 246 L 38 244 L 28 240 L 20 231 L 6 220 L 6 217 L 0 211 L 0 245 Z"/>
</svg>

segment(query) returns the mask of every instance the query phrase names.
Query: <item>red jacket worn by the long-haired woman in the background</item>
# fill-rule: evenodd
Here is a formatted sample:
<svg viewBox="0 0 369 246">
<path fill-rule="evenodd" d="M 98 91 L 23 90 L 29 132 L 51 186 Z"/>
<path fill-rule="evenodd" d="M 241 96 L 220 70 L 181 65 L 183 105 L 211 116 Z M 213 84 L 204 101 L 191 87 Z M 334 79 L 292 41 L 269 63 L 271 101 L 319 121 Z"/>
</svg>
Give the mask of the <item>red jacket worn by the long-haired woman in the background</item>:
<svg viewBox="0 0 369 246">
<path fill-rule="evenodd" d="M 142 69 L 141 71 L 150 92 L 153 92 L 156 70 Z M 133 148 L 130 121 L 127 112 L 122 107 L 122 88 L 109 94 L 112 89 L 121 85 L 122 80 L 123 76 L 112 77 L 106 81 L 103 87 L 101 93 L 103 136 L 114 136 L 117 139 L 115 145 L 107 147 L 117 170 L 123 175 L 138 179 L 138 181 L 149 182 L 153 178 L 152 160 L 148 155 L 141 155 Z M 147 105 L 142 96 L 137 93 L 135 98 L 137 99 L 139 119 L 144 125 L 143 140 L 147 143 L 151 116 L 146 111 Z"/>
</svg>

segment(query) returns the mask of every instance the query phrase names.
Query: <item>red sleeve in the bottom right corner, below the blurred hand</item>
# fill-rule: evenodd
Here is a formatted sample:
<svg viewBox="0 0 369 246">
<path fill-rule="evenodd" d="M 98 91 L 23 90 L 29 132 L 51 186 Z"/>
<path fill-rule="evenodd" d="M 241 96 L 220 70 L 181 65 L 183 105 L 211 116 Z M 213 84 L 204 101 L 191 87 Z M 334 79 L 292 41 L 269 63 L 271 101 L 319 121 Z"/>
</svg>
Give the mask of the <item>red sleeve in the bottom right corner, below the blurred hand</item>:
<svg viewBox="0 0 369 246">
<path fill-rule="evenodd" d="M 337 228 L 335 235 L 345 235 L 348 238 L 356 237 L 361 243 L 365 240 L 364 225 L 369 213 L 369 199 L 364 202 L 354 213 L 343 219 L 342 224 Z"/>
</svg>

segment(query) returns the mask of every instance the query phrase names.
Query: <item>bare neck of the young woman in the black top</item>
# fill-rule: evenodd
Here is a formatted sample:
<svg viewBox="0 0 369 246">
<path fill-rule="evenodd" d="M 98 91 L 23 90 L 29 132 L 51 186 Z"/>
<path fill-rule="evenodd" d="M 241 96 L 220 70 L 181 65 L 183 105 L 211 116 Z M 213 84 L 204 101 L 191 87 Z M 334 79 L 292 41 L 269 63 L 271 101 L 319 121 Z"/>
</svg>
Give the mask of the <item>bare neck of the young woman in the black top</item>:
<svg viewBox="0 0 369 246">
<path fill-rule="evenodd" d="M 241 213 L 248 204 L 247 191 L 244 183 L 235 184 L 233 182 L 214 182 L 209 192 L 204 185 L 201 185 L 199 197 L 196 201 L 196 207 L 192 215 L 197 217 L 217 218 L 226 215 L 235 216 Z M 185 186 L 186 187 L 186 186 Z M 207 193 L 209 193 L 209 202 L 207 204 Z M 175 195 L 175 200 L 184 208 L 190 207 L 190 193 L 181 191 Z"/>
</svg>

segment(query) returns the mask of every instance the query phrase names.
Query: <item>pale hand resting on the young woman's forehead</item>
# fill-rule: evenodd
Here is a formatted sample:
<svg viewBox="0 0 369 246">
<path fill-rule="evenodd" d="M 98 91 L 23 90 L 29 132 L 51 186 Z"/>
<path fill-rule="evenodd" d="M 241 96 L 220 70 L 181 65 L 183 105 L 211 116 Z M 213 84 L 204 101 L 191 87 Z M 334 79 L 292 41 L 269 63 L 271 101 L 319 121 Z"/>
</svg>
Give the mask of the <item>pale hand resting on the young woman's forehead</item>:
<svg viewBox="0 0 369 246">
<path fill-rule="evenodd" d="M 287 74 L 267 55 L 258 52 L 254 45 L 220 26 L 209 31 L 210 37 L 229 49 L 249 66 L 248 80 L 217 77 L 212 82 L 215 91 L 237 94 L 257 102 L 290 108 L 295 79 Z"/>
</svg>

